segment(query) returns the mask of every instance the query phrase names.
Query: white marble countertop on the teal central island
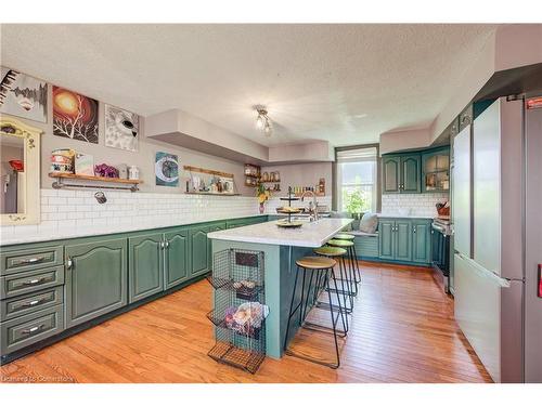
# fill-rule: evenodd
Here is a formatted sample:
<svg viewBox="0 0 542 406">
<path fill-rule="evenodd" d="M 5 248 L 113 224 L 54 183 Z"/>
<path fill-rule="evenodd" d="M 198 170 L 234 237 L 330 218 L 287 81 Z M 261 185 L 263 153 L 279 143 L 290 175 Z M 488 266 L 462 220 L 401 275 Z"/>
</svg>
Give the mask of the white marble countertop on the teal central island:
<svg viewBox="0 0 542 406">
<path fill-rule="evenodd" d="M 278 246 L 318 248 L 349 225 L 352 219 L 320 219 L 299 228 L 282 228 L 276 221 L 246 225 L 207 234 L 211 239 Z"/>
</svg>

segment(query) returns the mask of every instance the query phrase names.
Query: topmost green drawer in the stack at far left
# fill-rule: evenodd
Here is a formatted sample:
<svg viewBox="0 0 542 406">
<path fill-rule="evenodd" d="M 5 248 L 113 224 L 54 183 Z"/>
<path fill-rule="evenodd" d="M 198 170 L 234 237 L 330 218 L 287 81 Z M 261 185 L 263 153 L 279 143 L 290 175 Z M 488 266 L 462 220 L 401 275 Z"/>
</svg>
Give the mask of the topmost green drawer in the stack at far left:
<svg viewBox="0 0 542 406">
<path fill-rule="evenodd" d="M 0 258 L 0 276 L 64 263 L 62 246 L 1 252 Z"/>
</svg>

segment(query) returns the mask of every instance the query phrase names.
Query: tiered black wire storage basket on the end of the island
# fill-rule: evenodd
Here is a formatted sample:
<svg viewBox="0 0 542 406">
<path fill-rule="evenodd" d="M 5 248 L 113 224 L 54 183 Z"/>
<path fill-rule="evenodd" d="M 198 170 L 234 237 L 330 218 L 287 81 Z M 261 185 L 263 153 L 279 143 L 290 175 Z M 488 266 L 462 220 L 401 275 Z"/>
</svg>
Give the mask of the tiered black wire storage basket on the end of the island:
<svg viewBox="0 0 542 406">
<path fill-rule="evenodd" d="M 215 253 L 212 275 L 215 307 L 207 314 L 215 325 L 216 344 L 208 355 L 256 374 L 266 358 L 263 252 L 227 249 Z"/>
</svg>

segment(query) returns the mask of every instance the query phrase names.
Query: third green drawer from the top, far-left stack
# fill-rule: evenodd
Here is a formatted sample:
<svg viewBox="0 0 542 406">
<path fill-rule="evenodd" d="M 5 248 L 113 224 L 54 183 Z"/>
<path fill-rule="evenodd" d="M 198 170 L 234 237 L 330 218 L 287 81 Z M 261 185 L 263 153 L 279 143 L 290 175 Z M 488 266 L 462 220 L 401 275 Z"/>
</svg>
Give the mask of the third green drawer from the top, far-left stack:
<svg viewBox="0 0 542 406">
<path fill-rule="evenodd" d="M 0 320 L 5 322 L 62 303 L 64 303 L 62 286 L 5 299 L 0 302 Z"/>
</svg>

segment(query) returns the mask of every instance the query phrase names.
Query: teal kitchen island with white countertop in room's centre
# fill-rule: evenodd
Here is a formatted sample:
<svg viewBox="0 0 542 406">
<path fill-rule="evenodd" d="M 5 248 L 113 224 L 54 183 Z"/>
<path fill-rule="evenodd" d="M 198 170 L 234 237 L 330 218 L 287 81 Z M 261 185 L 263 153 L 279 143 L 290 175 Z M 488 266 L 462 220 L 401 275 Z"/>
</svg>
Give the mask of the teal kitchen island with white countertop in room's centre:
<svg viewBox="0 0 542 406">
<path fill-rule="evenodd" d="M 314 256 L 314 248 L 325 245 L 351 222 L 352 219 L 320 219 L 314 222 L 304 222 L 299 228 L 282 228 L 276 225 L 276 221 L 270 221 L 212 232 L 207 235 L 212 240 L 212 256 L 228 249 L 263 252 L 264 294 L 266 304 L 269 306 L 269 315 L 266 319 L 268 356 L 280 358 L 283 353 L 284 335 L 296 276 L 295 261 L 301 257 Z M 307 280 L 305 286 L 298 285 L 296 294 L 300 297 L 301 289 L 307 291 L 308 288 Z M 288 340 L 296 333 L 296 329 L 292 327 Z"/>
</svg>

